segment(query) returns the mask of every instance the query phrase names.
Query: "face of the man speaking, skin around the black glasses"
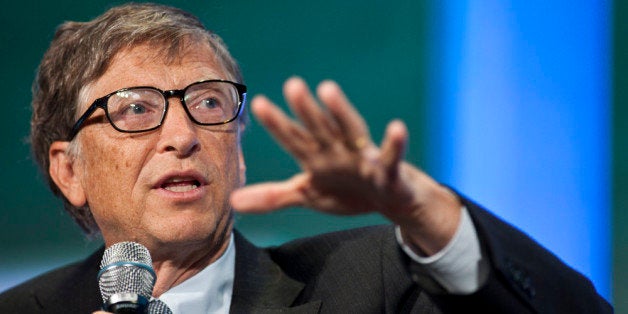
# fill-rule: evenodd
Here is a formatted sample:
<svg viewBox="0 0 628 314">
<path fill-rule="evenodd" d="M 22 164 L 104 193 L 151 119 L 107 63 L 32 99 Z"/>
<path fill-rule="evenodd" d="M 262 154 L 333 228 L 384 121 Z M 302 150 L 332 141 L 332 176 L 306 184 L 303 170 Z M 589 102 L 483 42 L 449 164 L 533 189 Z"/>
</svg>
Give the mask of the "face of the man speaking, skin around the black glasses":
<svg viewBox="0 0 628 314">
<path fill-rule="evenodd" d="M 188 46 L 174 60 L 154 47 L 137 46 L 116 55 L 87 89 L 78 112 L 121 88 L 182 89 L 207 79 L 230 77 L 206 45 Z M 107 245 L 207 243 L 230 231 L 229 194 L 244 183 L 239 123 L 199 126 L 178 98 L 168 101 L 157 130 L 118 132 L 98 110 L 92 116 L 97 122 L 76 139 L 73 170 Z"/>
</svg>

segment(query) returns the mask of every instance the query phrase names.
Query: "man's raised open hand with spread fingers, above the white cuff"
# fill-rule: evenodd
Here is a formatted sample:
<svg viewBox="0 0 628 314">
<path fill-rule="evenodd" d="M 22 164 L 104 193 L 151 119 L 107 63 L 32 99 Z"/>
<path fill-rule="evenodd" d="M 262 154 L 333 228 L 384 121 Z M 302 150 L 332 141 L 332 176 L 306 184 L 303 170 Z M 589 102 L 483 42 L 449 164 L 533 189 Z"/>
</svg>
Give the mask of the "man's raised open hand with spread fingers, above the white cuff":
<svg viewBox="0 0 628 314">
<path fill-rule="evenodd" d="M 446 245 L 457 227 L 460 204 L 403 161 L 408 134 L 401 121 L 388 124 L 378 147 L 336 83 L 318 86 L 324 107 L 299 78 L 285 83 L 284 95 L 300 123 L 264 96 L 253 99 L 252 110 L 296 158 L 302 172 L 286 181 L 235 191 L 231 203 L 236 210 L 268 212 L 304 206 L 343 215 L 379 212 L 400 225 L 404 236 L 426 254 Z"/>
</svg>

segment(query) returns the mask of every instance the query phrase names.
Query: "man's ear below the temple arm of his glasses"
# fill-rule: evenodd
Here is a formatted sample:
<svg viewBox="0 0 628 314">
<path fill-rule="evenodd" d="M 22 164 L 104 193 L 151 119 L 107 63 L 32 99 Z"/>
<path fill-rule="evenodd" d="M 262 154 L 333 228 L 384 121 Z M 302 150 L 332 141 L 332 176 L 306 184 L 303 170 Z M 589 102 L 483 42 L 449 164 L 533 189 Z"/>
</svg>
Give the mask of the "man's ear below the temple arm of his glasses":
<svg viewBox="0 0 628 314">
<path fill-rule="evenodd" d="M 75 159 L 69 155 L 67 149 L 70 142 L 53 142 L 48 150 L 50 168 L 48 172 L 59 190 L 70 203 L 76 207 L 85 205 L 87 199 L 81 185 L 80 171 L 75 164 Z"/>
</svg>

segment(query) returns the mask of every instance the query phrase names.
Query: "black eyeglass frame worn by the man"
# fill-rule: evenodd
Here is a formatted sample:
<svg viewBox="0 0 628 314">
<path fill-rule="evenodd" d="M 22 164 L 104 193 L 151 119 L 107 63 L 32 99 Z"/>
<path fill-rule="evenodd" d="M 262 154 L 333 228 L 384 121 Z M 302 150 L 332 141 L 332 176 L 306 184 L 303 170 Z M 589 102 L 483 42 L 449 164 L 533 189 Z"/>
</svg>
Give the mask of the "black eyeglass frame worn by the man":
<svg viewBox="0 0 628 314">
<path fill-rule="evenodd" d="M 189 109 L 187 108 L 186 104 L 185 104 L 185 92 L 193 87 L 196 86 L 198 84 L 203 84 L 203 83 L 211 83 L 211 82 L 221 82 L 221 83 L 229 83 L 231 85 L 233 85 L 236 90 L 238 91 L 238 109 L 236 111 L 236 114 L 233 118 L 226 120 L 226 121 L 221 121 L 221 122 L 213 122 L 213 123 L 201 123 L 198 122 L 190 113 Z M 109 98 L 117 93 L 120 92 L 124 92 L 124 91 L 128 91 L 128 90 L 133 90 L 133 89 L 151 89 L 154 91 L 157 91 L 159 93 L 161 93 L 164 96 L 164 99 L 166 101 L 166 103 L 164 104 L 164 112 L 161 116 L 161 121 L 159 121 L 159 124 L 157 124 L 156 126 L 149 128 L 149 129 L 142 129 L 142 130 L 122 130 L 120 128 L 118 128 L 113 121 L 111 121 L 111 117 L 109 116 L 109 110 L 107 109 L 107 103 L 109 101 Z M 103 97 L 100 97 L 96 100 L 94 100 L 94 102 L 89 106 L 89 108 L 87 108 L 87 110 L 85 110 L 85 113 L 83 113 L 81 115 L 80 118 L 78 118 L 78 120 L 76 120 L 76 123 L 74 123 L 74 126 L 72 126 L 72 131 L 70 132 L 70 136 L 68 137 L 68 141 L 71 141 L 72 139 L 74 139 L 74 137 L 78 134 L 78 132 L 81 130 L 83 123 L 85 123 L 85 121 L 87 120 L 87 118 L 89 118 L 92 114 L 94 114 L 94 112 L 96 112 L 96 109 L 101 108 L 105 111 L 105 116 L 107 117 L 107 120 L 109 121 L 109 124 L 111 124 L 111 126 L 116 129 L 116 131 L 118 132 L 122 132 L 122 133 L 141 133 L 141 132 L 148 132 L 148 131 L 152 131 L 152 130 L 156 130 L 159 127 L 161 127 L 161 125 L 164 122 L 164 119 L 166 118 L 166 115 L 168 114 L 168 106 L 170 106 L 170 102 L 168 101 L 168 99 L 172 98 L 172 97 L 179 97 L 179 100 L 181 101 L 181 105 L 183 106 L 183 109 L 185 110 L 185 113 L 188 115 L 188 117 L 190 118 L 190 120 L 192 120 L 192 122 L 198 124 L 198 125 L 221 125 L 221 124 L 227 124 L 229 122 L 234 121 L 235 119 L 237 119 L 240 114 L 242 113 L 242 110 L 244 109 L 244 106 L 246 104 L 246 85 L 244 84 L 240 84 L 240 83 L 236 83 L 236 82 L 232 82 L 232 81 L 228 81 L 228 80 L 203 80 L 203 81 L 198 81 L 198 82 L 194 82 L 188 86 L 186 86 L 183 89 L 171 89 L 171 90 L 161 90 L 157 87 L 153 87 L 153 86 L 133 86 L 133 87 L 125 87 L 119 90 L 116 90 L 114 92 L 111 92 Z"/>
</svg>

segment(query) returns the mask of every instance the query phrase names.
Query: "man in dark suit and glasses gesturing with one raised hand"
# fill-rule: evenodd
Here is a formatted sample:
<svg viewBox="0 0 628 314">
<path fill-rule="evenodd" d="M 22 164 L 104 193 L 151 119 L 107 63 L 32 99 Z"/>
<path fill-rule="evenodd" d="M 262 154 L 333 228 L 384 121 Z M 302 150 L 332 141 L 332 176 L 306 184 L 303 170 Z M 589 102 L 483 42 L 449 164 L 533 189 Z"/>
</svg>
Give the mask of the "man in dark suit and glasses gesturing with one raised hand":
<svg viewBox="0 0 628 314">
<path fill-rule="evenodd" d="M 302 173 L 244 187 L 246 87 L 218 36 L 159 5 L 64 23 L 35 82 L 31 140 L 52 190 L 105 247 L 146 246 L 153 296 L 174 313 L 610 312 L 591 283 L 523 234 L 403 161 L 407 131 L 375 145 L 339 86 L 299 78 L 257 119 Z M 259 249 L 233 210 L 378 212 L 390 226 Z M 100 309 L 103 249 L 0 296 L 0 312 Z"/>
</svg>

